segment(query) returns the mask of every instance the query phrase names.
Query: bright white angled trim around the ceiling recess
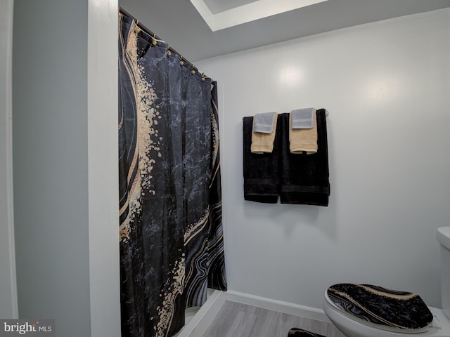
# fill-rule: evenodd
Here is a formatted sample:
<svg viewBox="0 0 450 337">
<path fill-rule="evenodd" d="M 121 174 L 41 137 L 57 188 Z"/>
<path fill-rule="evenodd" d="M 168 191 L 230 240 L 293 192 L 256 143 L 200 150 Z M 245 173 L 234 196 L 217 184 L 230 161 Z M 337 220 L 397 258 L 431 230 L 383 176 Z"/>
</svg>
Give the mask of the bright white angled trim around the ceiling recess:
<svg viewBox="0 0 450 337">
<path fill-rule="evenodd" d="M 212 32 L 328 0 L 259 0 L 213 14 L 203 0 L 191 0 Z"/>
</svg>

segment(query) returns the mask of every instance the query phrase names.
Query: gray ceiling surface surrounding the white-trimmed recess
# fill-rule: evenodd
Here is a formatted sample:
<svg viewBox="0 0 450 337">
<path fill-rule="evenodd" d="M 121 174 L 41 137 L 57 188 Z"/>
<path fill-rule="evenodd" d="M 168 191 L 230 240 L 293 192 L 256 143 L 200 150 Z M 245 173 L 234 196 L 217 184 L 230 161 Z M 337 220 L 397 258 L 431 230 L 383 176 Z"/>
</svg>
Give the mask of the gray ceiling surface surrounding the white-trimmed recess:
<svg viewBox="0 0 450 337">
<path fill-rule="evenodd" d="M 191 62 L 335 29 L 450 7 L 450 0 L 328 0 L 285 12 L 282 8 L 283 13 L 213 32 L 193 5 L 195 1 L 203 1 L 210 19 L 214 19 L 224 13 L 241 17 L 241 9 L 256 6 L 259 2 L 270 2 L 271 5 L 266 7 L 276 12 L 277 4 L 308 0 L 119 0 L 119 4 Z"/>
</svg>

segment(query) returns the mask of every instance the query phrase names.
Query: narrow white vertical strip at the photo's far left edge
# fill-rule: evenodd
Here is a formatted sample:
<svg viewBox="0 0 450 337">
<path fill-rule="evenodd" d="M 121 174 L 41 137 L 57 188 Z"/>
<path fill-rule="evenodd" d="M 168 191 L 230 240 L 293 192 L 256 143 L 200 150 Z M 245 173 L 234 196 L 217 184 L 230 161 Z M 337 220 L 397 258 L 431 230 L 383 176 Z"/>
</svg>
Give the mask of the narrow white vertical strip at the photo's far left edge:
<svg viewBox="0 0 450 337">
<path fill-rule="evenodd" d="M 17 318 L 13 227 L 13 0 L 0 1 L 0 317 Z"/>
</svg>

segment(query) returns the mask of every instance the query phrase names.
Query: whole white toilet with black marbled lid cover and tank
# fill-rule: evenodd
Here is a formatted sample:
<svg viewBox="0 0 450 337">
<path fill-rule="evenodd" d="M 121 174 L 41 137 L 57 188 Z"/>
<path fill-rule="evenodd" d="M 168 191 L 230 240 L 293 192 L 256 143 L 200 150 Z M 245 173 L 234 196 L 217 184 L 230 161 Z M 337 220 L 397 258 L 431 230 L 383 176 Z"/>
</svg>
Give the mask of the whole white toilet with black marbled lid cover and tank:
<svg viewBox="0 0 450 337">
<path fill-rule="evenodd" d="M 330 321 L 347 337 L 450 337 L 450 227 L 438 228 L 436 237 L 443 309 L 427 307 L 415 293 L 335 284 L 325 292 L 323 305 Z"/>
</svg>

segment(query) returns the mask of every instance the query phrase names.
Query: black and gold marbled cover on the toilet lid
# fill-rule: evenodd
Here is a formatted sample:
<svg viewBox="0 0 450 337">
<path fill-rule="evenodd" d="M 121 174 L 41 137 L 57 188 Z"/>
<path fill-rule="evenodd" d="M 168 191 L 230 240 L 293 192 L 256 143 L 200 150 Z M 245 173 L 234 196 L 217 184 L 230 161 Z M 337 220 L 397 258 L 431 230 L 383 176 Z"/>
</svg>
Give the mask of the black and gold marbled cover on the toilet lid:
<svg viewBox="0 0 450 337">
<path fill-rule="evenodd" d="M 350 283 L 330 286 L 327 293 L 349 314 L 380 326 L 418 330 L 433 320 L 430 309 L 416 293 Z"/>
</svg>

